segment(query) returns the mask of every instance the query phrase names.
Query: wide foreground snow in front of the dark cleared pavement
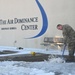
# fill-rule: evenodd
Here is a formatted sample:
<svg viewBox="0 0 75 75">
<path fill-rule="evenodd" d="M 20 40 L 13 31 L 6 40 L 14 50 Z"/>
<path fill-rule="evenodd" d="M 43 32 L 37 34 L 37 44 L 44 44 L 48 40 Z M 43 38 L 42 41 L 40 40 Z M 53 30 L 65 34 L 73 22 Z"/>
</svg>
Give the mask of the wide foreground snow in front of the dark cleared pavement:
<svg viewBox="0 0 75 75">
<path fill-rule="evenodd" d="M 4 61 L 0 75 L 75 75 L 75 63 Z"/>
</svg>

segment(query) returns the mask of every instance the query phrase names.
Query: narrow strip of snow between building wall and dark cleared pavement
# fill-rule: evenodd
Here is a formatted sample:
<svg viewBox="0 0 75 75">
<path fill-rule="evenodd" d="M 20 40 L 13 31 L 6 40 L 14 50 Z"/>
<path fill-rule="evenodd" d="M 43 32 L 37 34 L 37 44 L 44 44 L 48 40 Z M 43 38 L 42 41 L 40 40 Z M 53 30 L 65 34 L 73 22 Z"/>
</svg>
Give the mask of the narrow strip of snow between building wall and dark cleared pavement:
<svg viewBox="0 0 75 75">
<path fill-rule="evenodd" d="M 11 55 L 19 55 L 19 54 L 31 54 L 31 52 L 36 52 L 36 53 L 44 53 L 44 54 L 62 54 L 61 50 L 48 50 L 46 51 L 45 49 L 35 49 L 35 48 L 24 48 L 24 49 L 17 49 L 16 47 L 7 47 L 7 46 L 0 46 L 0 51 L 4 50 L 10 50 L 10 51 L 18 51 L 17 53 L 14 54 L 4 54 L 0 56 L 11 56 Z M 66 50 L 64 55 L 68 55 L 68 51 Z"/>
</svg>

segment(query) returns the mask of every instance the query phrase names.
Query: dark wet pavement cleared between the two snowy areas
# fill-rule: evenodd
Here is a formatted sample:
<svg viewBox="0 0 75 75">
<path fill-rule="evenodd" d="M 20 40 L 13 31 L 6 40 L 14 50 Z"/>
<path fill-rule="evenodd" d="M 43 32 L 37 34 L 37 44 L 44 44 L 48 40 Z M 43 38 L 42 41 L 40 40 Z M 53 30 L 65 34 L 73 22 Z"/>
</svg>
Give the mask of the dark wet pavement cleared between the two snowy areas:
<svg viewBox="0 0 75 75">
<path fill-rule="evenodd" d="M 11 54 L 14 51 L 3 51 L 0 54 Z M 54 54 L 43 54 L 43 53 L 36 53 L 35 55 L 32 54 L 19 54 L 19 55 L 10 55 L 10 56 L 0 56 L 0 61 L 26 61 L 26 62 L 40 62 L 44 60 L 48 60 L 49 58 L 64 58 L 65 60 L 68 58 L 68 55 L 54 55 Z M 66 62 L 71 62 L 66 60 Z M 75 59 L 74 61 L 75 62 Z"/>
</svg>

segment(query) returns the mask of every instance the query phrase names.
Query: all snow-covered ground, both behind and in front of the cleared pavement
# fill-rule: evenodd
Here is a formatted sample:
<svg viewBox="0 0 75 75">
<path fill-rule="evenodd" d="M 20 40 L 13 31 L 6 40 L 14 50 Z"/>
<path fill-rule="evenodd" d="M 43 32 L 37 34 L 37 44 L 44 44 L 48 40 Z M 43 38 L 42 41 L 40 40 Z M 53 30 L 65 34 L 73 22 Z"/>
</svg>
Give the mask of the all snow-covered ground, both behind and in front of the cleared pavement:
<svg viewBox="0 0 75 75">
<path fill-rule="evenodd" d="M 24 48 L 18 50 L 16 47 L 0 46 L 0 50 L 18 51 L 14 54 L 1 54 L 0 56 L 10 56 L 15 54 L 30 54 L 32 51 L 46 54 L 62 54 L 61 50 L 42 50 Z M 67 50 L 65 55 L 67 55 Z M 25 61 L 2 61 L 0 62 L 0 75 L 75 75 L 75 63 L 66 63 L 61 58 L 51 58 L 49 61 L 25 62 Z"/>
</svg>

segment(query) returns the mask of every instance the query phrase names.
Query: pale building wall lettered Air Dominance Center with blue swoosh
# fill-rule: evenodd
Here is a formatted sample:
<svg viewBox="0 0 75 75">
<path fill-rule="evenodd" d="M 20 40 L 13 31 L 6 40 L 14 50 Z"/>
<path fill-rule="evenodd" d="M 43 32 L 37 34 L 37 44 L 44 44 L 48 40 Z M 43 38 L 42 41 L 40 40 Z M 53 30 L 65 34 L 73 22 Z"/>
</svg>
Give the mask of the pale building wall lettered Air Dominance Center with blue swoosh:
<svg viewBox="0 0 75 75">
<path fill-rule="evenodd" d="M 75 0 L 1 0 L 0 46 L 43 48 L 44 37 L 62 37 L 59 23 L 75 29 Z"/>
</svg>

